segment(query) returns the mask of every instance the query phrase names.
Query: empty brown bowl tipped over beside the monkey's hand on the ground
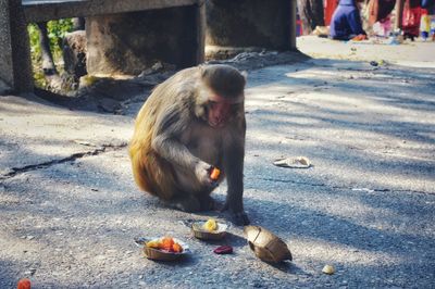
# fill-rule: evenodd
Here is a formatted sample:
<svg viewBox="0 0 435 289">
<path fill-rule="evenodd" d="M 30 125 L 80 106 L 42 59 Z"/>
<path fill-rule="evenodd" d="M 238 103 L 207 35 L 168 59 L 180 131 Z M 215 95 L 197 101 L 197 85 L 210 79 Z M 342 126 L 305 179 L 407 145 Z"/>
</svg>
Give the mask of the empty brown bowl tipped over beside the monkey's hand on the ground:
<svg viewBox="0 0 435 289">
<path fill-rule="evenodd" d="M 279 263 L 284 260 L 293 260 L 287 244 L 270 230 L 260 226 L 246 226 L 249 248 L 264 262 Z"/>
</svg>

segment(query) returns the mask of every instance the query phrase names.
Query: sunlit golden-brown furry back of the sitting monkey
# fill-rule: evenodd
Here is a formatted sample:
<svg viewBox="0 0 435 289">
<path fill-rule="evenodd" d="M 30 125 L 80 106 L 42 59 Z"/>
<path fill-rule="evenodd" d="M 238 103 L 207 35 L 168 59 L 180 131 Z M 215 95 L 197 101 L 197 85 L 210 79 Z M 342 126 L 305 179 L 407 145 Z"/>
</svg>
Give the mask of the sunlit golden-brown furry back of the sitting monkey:
<svg viewBox="0 0 435 289">
<path fill-rule="evenodd" d="M 198 67 L 186 68 L 158 85 L 136 117 L 129 146 L 133 174 L 139 188 L 163 199 L 172 197 L 175 181 L 167 172 L 172 172 L 173 167 L 153 151 L 152 140 L 159 122 L 171 106 L 188 103 L 188 93 L 192 90 L 198 74 Z M 181 101 L 179 98 L 186 100 Z M 178 108 L 178 111 L 185 110 Z"/>
</svg>

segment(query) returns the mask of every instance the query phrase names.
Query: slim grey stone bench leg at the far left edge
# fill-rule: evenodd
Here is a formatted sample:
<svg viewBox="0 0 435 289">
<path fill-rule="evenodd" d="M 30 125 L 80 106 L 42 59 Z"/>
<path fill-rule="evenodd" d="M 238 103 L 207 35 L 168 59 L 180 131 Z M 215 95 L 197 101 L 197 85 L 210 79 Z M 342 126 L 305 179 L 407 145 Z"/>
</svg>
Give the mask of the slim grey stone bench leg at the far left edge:
<svg viewBox="0 0 435 289">
<path fill-rule="evenodd" d="M 34 89 L 27 23 L 21 0 L 0 0 L 0 78 L 14 91 Z"/>
</svg>

